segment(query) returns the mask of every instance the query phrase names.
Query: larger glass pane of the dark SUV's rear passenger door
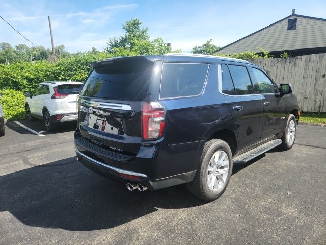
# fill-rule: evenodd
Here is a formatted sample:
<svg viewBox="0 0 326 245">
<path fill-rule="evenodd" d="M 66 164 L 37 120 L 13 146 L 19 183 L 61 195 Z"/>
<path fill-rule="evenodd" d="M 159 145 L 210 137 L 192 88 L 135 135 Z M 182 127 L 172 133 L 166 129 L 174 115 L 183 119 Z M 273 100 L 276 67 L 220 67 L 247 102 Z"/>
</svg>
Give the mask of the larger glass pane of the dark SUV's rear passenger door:
<svg viewBox="0 0 326 245">
<path fill-rule="evenodd" d="M 228 65 L 236 95 L 254 94 L 246 66 Z"/>
</svg>

